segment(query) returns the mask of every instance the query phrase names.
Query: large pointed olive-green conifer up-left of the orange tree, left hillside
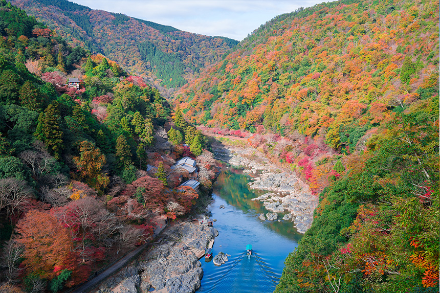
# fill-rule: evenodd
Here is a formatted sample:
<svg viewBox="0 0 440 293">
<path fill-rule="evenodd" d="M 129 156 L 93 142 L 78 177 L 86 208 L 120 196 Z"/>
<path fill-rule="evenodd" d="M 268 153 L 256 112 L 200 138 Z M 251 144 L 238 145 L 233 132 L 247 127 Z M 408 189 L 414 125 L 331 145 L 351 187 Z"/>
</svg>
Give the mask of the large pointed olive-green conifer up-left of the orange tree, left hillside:
<svg viewBox="0 0 440 293">
<path fill-rule="evenodd" d="M 58 102 L 53 101 L 44 112 L 40 113 L 37 130 L 34 133 L 34 136 L 46 145 L 57 160 L 61 159 L 61 151 L 64 148 L 60 123 Z"/>
</svg>

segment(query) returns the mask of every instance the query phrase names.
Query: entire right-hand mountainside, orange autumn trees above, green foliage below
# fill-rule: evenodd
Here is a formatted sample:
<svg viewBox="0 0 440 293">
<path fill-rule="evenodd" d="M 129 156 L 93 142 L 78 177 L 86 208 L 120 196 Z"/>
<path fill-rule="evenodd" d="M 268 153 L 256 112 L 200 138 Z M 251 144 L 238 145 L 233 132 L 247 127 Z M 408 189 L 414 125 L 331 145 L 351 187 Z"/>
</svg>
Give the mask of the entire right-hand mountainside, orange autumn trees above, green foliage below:
<svg viewBox="0 0 440 293">
<path fill-rule="evenodd" d="M 438 20 L 438 1 L 299 9 L 175 94 L 319 194 L 277 292 L 438 290 Z"/>
</svg>

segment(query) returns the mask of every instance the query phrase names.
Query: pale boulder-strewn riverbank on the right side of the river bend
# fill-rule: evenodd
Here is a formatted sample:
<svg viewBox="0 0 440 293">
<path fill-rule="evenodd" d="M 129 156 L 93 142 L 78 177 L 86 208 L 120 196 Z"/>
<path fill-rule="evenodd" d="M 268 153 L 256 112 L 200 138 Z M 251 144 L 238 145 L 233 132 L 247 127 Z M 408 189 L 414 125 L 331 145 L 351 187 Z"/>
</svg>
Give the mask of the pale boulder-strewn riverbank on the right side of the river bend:
<svg viewBox="0 0 440 293">
<path fill-rule="evenodd" d="M 252 189 L 272 191 L 252 199 L 262 201 L 271 212 L 259 215 L 261 220 L 277 220 L 279 213 L 283 220 L 292 220 L 299 233 L 305 233 L 312 226 L 313 211 L 319 200 L 295 175 L 283 172 L 253 148 L 213 145 L 213 149 L 216 159 L 260 174 L 249 183 Z"/>
</svg>

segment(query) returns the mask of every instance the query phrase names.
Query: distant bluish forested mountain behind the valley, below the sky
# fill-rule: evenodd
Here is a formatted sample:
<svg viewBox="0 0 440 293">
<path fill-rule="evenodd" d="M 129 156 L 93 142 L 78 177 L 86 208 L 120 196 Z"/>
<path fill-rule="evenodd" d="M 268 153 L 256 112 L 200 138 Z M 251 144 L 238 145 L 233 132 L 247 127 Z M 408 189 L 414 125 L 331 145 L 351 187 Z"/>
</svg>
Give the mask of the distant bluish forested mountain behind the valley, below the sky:
<svg viewBox="0 0 440 293">
<path fill-rule="evenodd" d="M 148 77 L 155 86 L 180 87 L 201 67 L 221 60 L 238 43 L 180 31 L 120 13 L 92 10 L 65 0 L 13 0 L 73 46 L 81 45 Z M 164 86 L 164 87 L 161 87 Z"/>
</svg>

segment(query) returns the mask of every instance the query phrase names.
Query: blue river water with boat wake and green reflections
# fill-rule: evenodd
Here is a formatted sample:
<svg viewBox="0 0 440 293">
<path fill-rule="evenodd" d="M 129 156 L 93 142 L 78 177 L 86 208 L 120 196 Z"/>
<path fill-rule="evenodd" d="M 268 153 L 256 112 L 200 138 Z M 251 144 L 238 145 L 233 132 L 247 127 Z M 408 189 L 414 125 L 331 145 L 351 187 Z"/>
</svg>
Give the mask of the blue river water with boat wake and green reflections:
<svg viewBox="0 0 440 293">
<path fill-rule="evenodd" d="M 281 277 L 284 260 L 298 246 L 301 234 L 291 221 L 261 221 L 267 213 L 259 201 L 251 201 L 267 191 L 248 188 L 251 176 L 241 169 L 224 169 L 214 186 L 211 218 L 216 219 L 213 255 L 231 255 L 229 261 L 216 266 L 201 259 L 204 276 L 197 292 L 272 292 Z M 225 208 L 221 208 L 221 206 Z M 252 244 L 253 255 L 246 255 Z"/>
</svg>

